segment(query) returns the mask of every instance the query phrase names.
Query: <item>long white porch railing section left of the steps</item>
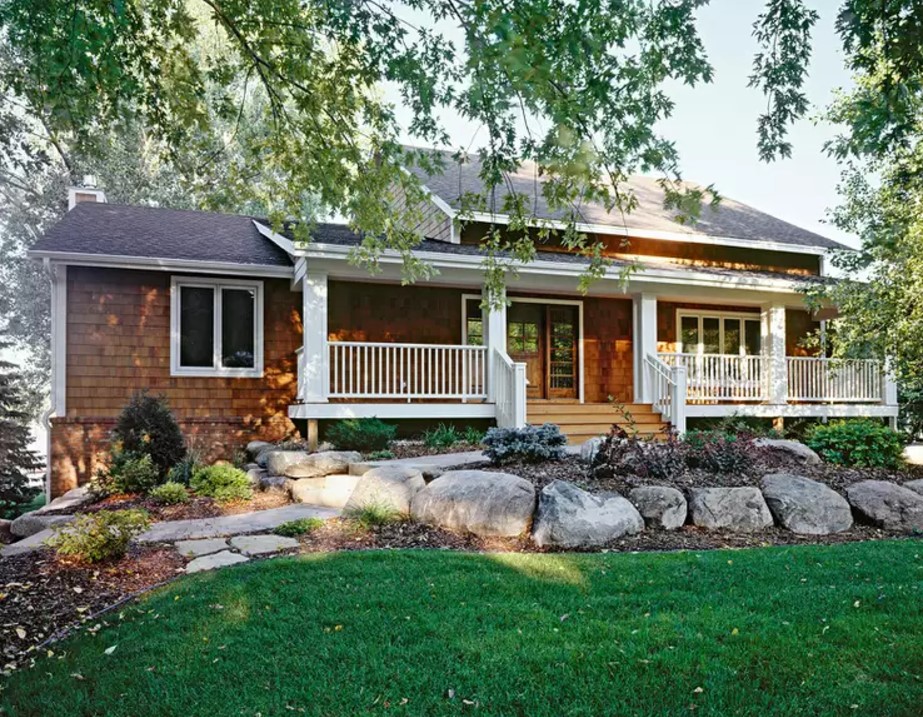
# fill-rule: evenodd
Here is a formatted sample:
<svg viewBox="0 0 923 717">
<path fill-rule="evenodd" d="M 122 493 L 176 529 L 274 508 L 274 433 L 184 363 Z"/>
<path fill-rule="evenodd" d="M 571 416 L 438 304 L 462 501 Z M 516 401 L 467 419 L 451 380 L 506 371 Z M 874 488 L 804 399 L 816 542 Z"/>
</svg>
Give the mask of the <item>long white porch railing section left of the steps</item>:
<svg viewBox="0 0 923 717">
<path fill-rule="evenodd" d="M 330 398 L 482 400 L 484 346 L 328 341 Z"/>
</svg>

